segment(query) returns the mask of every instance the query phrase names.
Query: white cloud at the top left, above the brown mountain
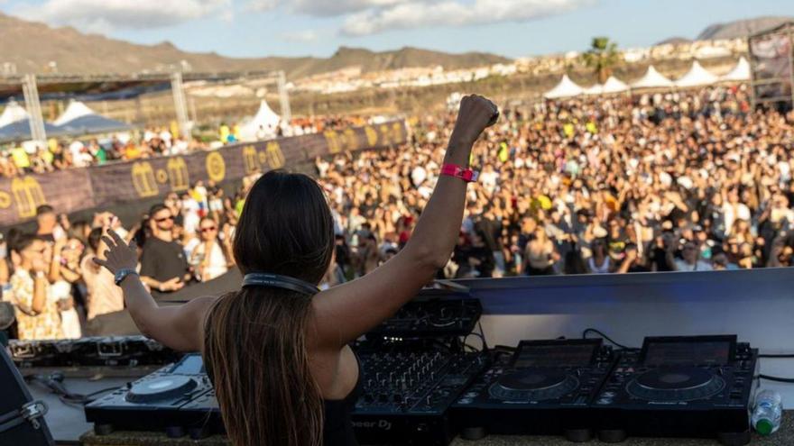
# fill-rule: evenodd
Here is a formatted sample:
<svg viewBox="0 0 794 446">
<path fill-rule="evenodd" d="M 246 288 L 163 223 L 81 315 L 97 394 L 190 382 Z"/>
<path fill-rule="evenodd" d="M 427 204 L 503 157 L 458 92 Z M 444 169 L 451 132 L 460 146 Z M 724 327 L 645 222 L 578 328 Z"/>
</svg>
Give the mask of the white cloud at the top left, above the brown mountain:
<svg viewBox="0 0 794 446">
<path fill-rule="evenodd" d="M 151 29 L 208 16 L 228 20 L 232 0 L 47 0 L 14 11 L 36 22 L 85 32 Z"/>
</svg>

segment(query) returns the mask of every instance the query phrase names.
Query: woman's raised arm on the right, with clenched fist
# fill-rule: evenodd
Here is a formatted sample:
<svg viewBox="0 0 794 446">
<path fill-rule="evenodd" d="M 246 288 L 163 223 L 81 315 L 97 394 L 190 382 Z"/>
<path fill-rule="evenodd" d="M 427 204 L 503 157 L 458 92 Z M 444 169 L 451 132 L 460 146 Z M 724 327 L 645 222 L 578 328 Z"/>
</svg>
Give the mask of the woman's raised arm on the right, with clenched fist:
<svg viewBox="0 0 794 446">
<path fill-rule="evenodd" d="M 497 116 L 496 105 L 485 97 L 464 97 L 444 164 L 467 168 L 472 146 Z M 466 182 L 440 176 L 411 240 L 400 253 L 365 277 L 315 296 L 314 341 L 320 346 L 340 348 L 416 296 L 447 264 L 457 242 L 465 204 Z"/>
</svg>

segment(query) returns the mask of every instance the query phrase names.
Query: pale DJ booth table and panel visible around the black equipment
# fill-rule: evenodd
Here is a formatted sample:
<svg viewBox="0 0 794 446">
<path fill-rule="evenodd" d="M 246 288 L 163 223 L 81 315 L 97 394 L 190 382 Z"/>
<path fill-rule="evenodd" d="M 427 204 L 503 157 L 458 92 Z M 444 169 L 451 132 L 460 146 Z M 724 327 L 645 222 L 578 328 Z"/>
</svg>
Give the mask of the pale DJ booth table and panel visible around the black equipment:
<svg viewBox="0 0 794 446">
<path fill-rule="evenodd" d="M 725 272 L 654 273 L 633 275 L 471 279 L 457 281 L 470 287 L 483 304 L 482 327 L 490 345 L 516 345 L 524 339 L 578 339 L 586 328 L 605 332 L 630 347 L 642 345 L 645 336 L 727 334 L 738 335 L 762 353 L 794 351 L 794 295 L 790 284 L 794 269 L 758 269 Z M 238 282 L 235 282 L 238 283 Z M 763 359 L 761 373 L 794 377 L 794 360 Z M 70 390 L 86 394 L 125 384 L 149 371 L 134 370 L 126 379 L 76 378 Z M 118 380 L 120 379 L 120 380 Z M 116 380 L 116 381 L 114 381 Z M 787 410 L 794 409 L 794 386 L 762 381 L 783 396 Z M 168 439 L 146 432 L 94 435 L 81 409 L 63 405 L 57 398 L 34 397 L 51 404 L 47 421 L 60 444 L 85 445 L 215 445 L 223 437 L 201 441 Z M 49 399 L 48 399 L 49 398 Z M 54 401 L 51 401 L 54 400 Z M 488 436 L 481 441 L 456 439 L 454 446 L 570 445 L 561 437 Z M 604 444 L 592 441 L 590 444 Z M 624 446 L 706 446 L 710 440 L 630 438 Z M 750 444 L 794 444 L 794 410 L 771 437 L 752 437 Z"/>
</svg>

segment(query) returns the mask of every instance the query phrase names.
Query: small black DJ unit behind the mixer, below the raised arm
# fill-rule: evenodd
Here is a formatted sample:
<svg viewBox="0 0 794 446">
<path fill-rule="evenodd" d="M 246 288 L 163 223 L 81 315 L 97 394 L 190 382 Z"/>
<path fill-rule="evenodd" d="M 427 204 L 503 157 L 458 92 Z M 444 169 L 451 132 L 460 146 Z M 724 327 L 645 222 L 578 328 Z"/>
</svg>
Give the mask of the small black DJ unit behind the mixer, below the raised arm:
<svg viewBox="0 0 794 446">
<path fill-rule="evenodd" d="M 479 299 L 425 290 L 367 337 L 439 338 L 473 332 L 483 306 Z"/>
</svg>

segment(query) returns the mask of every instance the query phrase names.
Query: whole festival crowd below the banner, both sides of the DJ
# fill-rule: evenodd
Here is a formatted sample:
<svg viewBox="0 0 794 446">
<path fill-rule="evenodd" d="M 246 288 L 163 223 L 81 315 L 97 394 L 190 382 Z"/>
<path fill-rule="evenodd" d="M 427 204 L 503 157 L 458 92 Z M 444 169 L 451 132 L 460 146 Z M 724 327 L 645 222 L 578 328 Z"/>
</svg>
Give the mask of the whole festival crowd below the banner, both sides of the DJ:
<svg viewBox="0 0 794 446">
<path fill-rule="evenodd" d="M 371 272 L 411 238 L 454 120 L 427 115 L 400 147 L 316 159 L 337 242 L 322 287 Z M 794 113 L 752 110 L 746 86 L 503 110 L 475 146 L 480 175 L 439 278 L 791 266 L 792 144 Z M 69 222 L 42 206 L 38 230 L 8 234 L 2 252 L 16 334 L 75 337 L 124 308 L 91 260 L 108 228 L 137 241 L 143 282 L 158 298 L 222 276 L 255 179 L 229 196 L 198 182 L 127 228 L 113 214 Z"/>
</svg>

